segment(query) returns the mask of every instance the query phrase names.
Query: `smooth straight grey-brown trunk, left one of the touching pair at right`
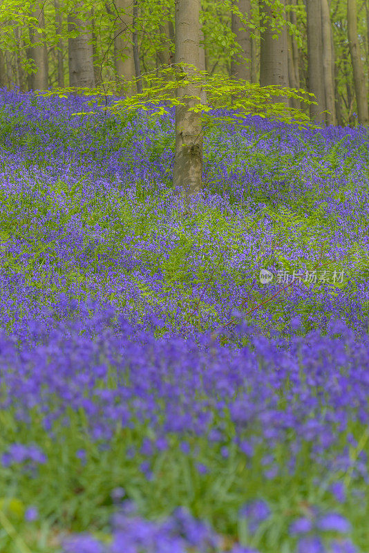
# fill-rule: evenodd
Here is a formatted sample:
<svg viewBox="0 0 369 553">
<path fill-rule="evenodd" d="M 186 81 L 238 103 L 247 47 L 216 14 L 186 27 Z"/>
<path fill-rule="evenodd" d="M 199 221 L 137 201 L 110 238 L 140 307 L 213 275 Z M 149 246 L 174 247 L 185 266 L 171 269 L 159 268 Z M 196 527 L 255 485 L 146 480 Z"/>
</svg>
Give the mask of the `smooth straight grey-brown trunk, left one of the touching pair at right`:
<svg viewBox="0 0 369 553">
<path fill-rule="evenodd" d="M 325 122 L 325 93 L 323 76 L 323 37 L 321 32 L 321 0 L 306 0 L 308 34 L 309 92 L 316 96 L 317 105 L 310 106 L 310 117 L 319 124 Z"/>
</svg>

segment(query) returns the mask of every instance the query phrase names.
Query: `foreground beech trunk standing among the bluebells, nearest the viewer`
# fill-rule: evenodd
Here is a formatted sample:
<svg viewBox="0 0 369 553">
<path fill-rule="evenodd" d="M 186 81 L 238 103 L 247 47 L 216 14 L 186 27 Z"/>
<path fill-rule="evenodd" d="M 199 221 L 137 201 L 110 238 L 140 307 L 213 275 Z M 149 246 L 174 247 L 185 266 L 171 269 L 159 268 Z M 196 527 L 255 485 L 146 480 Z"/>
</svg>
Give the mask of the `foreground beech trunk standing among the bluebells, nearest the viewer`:
<svg viewBox="0 0 369 553">
<path fill-rule="evenodd" d="M 200 1 L 175 0 L 176 10 L 176 68 L 180 64 L 199 66 Z M 183 68 L 182 73 L 191 73 Z M 179 77 L 180 78 L 180 77 Z M 185 98 L 185 95 L 192 97 Z M 174 187 L 183 187 L 186 203 L 189 196 L 197 194 L 202 187 L 202 128 L 198 113 L 189 108 L 198 104 L 200 89 L 191 86 L 178 88 L 177 97 L 185 106 L 176 106 L 176 156 L 173 167 Z"/>
</svg>

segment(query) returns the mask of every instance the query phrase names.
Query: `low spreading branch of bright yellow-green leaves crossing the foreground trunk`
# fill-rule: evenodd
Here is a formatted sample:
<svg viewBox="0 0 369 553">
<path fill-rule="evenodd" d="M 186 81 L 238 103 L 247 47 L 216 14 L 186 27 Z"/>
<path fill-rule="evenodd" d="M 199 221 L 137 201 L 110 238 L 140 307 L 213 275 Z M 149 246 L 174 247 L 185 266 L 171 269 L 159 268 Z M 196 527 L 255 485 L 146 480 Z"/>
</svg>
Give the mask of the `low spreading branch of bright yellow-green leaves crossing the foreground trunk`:
<svg viewBox="0 0 369 553">
<path fill-rule="evenodd" d="M 281 102 L 281 97 L 295 98 L 305 104 L 314 104 L 314 95 L 292 88 L 283 88 L 280 86 L 264 86 L 243 81 L 242 79 L 231 79 L 225 75 L 209 75 L 207 71 L 199 71 L 191 64 L 181 64 L 181 66 L 162 66 L 160 75 L 145 75 L 146 81 L 150 86 L 145 86 L 142 93 L 127 95 L 124 99 L 115 100 L 114 92 L 109 91 L 111 82 L 103 83 L 97 88 L 54 88 L 49 91 L 37 91 L 37 95 L 50 96 L 59 95 L 65 97 L 69 93 L 82 93 L 86 96 L 92 96 L 93 100 L 88 102 L 91 106 L 98 105 L 105 111 L 110 111 L 120 115 L 122 119 L 127 114 L 146 112 L 150 117 L 160 117 L 169 113 L 173 106 L 188 106 L 188 100 L 192 101 L 189 111 L 200 113 L 202 117 L 203 130 L 209 131 L 214 126 L 222 124 L 235 124 L 243 126 L 243 117 L 245 115 L 259 115 L 263 118 L 271 118 L 286 123 L 296 123 L 299 126 L 312 126 L 310 118 L 306 113 L 299 109 L 286 106 Z M 129 90 L 137 82 L 126 83 L 126 89 Z M 179 95 L 175 97 L 173 91 L 178 88 L 193 88 L 207 93 L 207 104 L 202 104 L 200 95 L 189 96 Z M 111 100 L 107 104 L 107 98 Z M 103 99 L 104 98 L 104 99 Z M 154 106 L 157 106 L 156 108 Z M 211 109 L 232 109 L 233 116 L 213 115 L 209 113 Z M 75 115 L 86 115 L 89 117 L 94 112 L 79 112 Z"/>
</svg>

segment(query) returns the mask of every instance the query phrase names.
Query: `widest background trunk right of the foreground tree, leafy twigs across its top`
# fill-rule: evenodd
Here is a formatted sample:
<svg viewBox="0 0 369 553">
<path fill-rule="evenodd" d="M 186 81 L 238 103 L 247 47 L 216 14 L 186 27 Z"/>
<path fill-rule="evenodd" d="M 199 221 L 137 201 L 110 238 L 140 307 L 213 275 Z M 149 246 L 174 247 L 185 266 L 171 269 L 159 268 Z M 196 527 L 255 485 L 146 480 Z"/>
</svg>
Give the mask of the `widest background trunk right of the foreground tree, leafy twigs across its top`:
<svg viewBox="0 0 369 553">
<path fill-rule="evenodd" d="M 283 5 L 285 1 L 282 1 Z M 261 9 L 262 26 L 265 30 L 261 33 L 260 52 L 260 84 L 261 86 L 278 85 L 290 86 L 288 79 L 288 57 L 287 57 L 287 28 L 284 25 L 276 30 L 273 29 L 273 10 L 263 0 L 259 3 Z M 289 99 L 285 97 L 273 97 L 274 102 L 283 102 L 288 106 Z"/>
</svg>

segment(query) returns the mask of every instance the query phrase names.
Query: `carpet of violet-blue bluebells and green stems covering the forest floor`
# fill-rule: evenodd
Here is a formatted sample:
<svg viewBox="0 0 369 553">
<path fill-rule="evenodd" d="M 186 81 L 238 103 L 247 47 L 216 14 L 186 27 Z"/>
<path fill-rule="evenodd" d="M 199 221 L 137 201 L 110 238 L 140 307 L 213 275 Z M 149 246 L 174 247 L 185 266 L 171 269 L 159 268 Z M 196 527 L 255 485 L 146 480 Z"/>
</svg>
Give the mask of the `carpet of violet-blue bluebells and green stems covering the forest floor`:
<svg viewBox="0 0 369 553">
<path fill-rule="evenodd" d="M 1 551 L 367 552 L 366 129 L 0 106 Z"/>
</svg>

